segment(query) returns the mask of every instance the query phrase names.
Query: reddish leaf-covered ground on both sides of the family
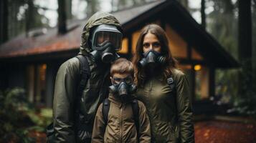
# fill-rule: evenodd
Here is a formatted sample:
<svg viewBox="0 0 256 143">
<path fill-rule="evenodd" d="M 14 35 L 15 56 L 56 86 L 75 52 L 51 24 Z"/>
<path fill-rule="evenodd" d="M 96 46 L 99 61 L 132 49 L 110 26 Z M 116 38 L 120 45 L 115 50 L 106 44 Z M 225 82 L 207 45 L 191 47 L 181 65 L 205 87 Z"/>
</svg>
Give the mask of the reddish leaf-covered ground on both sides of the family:
<svg viewBox="0 0 256 143">
<path fill-rule="evenodd" d="M 209 120 L 194 124 L 196 143 L 253 143 L 256 142 L 256 124 Z M 45 142 L 46 135 L 34 132 L 37 142 Z"/>
</svg>

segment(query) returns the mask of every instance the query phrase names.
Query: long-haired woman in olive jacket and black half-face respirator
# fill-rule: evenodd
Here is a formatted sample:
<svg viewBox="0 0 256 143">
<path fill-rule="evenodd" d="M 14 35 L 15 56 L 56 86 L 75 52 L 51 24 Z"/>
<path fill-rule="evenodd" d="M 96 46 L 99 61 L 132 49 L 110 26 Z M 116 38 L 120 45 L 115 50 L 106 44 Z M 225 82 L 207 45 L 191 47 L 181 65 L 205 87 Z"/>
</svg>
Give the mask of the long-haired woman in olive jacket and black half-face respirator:
<svg viewBox="0 0 256 143">
<path fill-rule="evenodd" d="M 165 31 L 156 24 L 141 30 L 133 56 L 137 96 L 147 108 L 153 142 L 194 142 L 189 84 L 176 69 Z"/>
</svg>

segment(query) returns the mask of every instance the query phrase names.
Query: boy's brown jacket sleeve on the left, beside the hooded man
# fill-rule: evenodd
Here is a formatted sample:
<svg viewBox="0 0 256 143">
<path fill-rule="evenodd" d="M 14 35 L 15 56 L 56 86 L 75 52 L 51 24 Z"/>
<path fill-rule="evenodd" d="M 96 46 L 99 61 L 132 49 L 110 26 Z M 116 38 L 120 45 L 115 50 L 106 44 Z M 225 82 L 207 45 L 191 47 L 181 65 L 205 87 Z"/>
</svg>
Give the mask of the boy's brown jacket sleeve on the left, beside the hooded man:
<svg viewBox="0 0 256 143">
<path fill-rule="evenodd" d="M 93 143 L 100 143 L 104 142 L 104 134 L 105 134 L 105 121 L 103 119 L 103 104 L 100 104 L 98 107 L 94 124 L 93 124 L 93 135 L 92 135 L 92 142 Z"/>
</svg>

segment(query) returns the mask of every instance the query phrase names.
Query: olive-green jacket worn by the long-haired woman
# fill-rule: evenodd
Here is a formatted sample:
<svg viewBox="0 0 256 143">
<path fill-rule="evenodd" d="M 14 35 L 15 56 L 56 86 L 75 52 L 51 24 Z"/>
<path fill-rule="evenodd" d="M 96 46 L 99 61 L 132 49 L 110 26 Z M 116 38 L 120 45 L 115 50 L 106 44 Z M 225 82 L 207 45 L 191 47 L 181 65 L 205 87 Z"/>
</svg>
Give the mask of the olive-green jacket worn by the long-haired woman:
<svg viewBox="0 0 256 143">
<path fill-rule="evenodd" d="M 153 142 L 193 143 L 189 84 L 182 71 L 173 69 L 172 75 L 175 88 L 169 87 L 163 74 L 156 74 L 138 87 L 136 95 L 146 106 Z"/>
</svg>

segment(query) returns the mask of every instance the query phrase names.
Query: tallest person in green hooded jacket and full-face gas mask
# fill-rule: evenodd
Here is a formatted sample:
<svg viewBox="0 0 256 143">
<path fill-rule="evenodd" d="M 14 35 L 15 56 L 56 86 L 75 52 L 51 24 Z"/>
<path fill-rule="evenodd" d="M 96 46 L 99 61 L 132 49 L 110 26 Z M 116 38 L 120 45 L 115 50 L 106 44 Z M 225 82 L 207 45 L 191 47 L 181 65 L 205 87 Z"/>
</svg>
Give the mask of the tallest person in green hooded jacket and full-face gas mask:
<svg viewBox="0 0 256 143">
<path fill-rule="evenodd" d="M 73 57 L 60 66 L 53 103 L 56 142 L 90 142 L 98 106 L 108 96 L 110 61 L 117 58 L 115 51 L 120 49 L 121 31 L 120 22 L 105 12 L 97 12 L 87 20 L 79 54 L 87 59 L 90 76 L 80 103 L 76 101 L 81 81 L 80 60 Z"/>
</svg>

